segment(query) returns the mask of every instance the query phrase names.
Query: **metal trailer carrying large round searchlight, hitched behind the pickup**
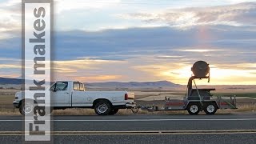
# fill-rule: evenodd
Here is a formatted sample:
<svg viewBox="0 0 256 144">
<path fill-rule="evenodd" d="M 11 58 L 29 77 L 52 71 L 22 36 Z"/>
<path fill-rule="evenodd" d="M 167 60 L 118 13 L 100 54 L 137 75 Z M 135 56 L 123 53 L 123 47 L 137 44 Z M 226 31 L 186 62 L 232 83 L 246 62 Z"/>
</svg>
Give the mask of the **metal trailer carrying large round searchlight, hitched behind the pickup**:
<svg viewBox="0 0 256 144">
<path fill-rule="evenodd" d="M 198 114 L 202 110 L 206 114 L 215 114 L 218 109 L 237 109 L 235 96 L 228 98 L 214 97 L 210 91 L 215 89 L 199 89 L 196 85 L 195 79 L 208 78 L 208 82 L 210 82 L 210 67 L 208 63 L 203 61 L 195 62 L 191 70 L 194 76 L 189 79 L 186 97 L 166 97 L 165 105 L 161 108 L 158 106 L 138 106 L 138 108 L 148 111 L 187 110 L 189 114 Z M 195 88 L 192 86 L 193 82 Z M 133 112 L 138 112 L 138 108 Z"/>
</svg>

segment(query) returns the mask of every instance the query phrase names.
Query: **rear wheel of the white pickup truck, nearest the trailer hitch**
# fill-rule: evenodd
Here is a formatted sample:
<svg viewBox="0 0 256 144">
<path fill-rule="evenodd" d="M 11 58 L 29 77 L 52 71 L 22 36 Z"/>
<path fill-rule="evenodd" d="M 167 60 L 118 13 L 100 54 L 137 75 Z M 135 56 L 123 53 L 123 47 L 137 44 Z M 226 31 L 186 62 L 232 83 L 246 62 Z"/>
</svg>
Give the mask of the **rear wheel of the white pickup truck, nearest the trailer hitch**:
<svg viewBox="0 0 256 144">
<path fill-rule="evenodd" d="M 108 115 L 112 111 L 112 107 L 109 102 L 101 101 L 96 103 L 94 106 L 94 111 L 98 115 Z"/>
</svg>

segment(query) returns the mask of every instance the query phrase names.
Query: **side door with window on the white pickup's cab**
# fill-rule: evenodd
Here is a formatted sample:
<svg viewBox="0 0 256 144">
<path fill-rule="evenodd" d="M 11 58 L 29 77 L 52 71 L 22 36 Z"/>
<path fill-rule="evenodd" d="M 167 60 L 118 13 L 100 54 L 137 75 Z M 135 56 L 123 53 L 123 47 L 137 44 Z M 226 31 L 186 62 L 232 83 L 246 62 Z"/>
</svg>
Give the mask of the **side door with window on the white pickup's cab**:
<svg viewBox="0 0 256 144">
<path fill-rule="evenodd" d="M 54 107 L 70 106 L 70 90 L 68 82 L 56 82 L 54 86 L 50 88 L 51 98 Z"/>
</svg>

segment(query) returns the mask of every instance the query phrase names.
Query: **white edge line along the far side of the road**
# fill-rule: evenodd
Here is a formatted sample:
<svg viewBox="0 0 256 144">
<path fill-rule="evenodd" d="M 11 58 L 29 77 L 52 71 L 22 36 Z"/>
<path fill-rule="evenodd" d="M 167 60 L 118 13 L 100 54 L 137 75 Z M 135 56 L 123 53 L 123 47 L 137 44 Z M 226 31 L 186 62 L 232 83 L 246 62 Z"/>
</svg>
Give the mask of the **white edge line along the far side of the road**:
<svg viewBox="0 0 256 144">
<path fill-rule="evenodd" d="M 28 120 L 33 121 L 33 120 Z M 51 122 L 162 122 L 162 121 L 256 121 L 256 118 L 237 119 L 56 119 Z M 24 122 L 24 120 L 0 120 L 0 122 Z"/>
</svg>

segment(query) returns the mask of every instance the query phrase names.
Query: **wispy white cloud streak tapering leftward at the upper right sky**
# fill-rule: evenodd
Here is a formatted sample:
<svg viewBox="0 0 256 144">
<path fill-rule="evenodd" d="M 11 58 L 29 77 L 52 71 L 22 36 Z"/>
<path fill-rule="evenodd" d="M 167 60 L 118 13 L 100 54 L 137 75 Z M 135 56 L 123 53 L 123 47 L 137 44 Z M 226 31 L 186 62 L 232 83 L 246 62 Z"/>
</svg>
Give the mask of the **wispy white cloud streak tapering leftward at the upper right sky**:
<svg viewBox="0 0 256 144">
<path fill-rule="evenodd" d="M 157 13 L 118 14 L 119 18 L 138 19 L 146 23 L 160 22 L 179 29 L 205 25 L 255 26 L 255 16 L 256 3 L 254 2 L 239 3 L 230 6 L 160 10 Z"/>
</svg>

